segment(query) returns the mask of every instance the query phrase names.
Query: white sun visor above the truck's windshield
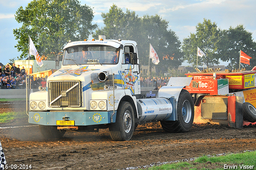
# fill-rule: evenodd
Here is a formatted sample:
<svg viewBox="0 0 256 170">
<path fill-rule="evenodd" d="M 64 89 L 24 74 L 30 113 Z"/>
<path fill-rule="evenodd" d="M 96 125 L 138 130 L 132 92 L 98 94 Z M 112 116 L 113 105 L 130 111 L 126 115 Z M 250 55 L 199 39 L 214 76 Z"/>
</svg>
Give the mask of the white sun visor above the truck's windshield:
<svg viewBox="0 0 256 170">
<path fill-rule="evenodd" d="M 71 46 L 76 46 L 76 45 L 104 45 L 104 46 L 112 46 L 114 48 L 119 48 L 121 44 L 115 41 L 74 41 L 74 42 L 69 42 L 64 48 L 68 48 Z"/>
</svg>

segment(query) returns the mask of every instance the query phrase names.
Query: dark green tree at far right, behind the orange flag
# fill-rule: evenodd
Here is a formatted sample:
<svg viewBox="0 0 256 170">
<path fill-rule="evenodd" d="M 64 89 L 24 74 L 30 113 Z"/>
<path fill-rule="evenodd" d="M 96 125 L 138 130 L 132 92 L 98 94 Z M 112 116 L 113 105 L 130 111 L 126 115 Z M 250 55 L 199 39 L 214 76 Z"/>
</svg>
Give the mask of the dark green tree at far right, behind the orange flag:
<svg viewBox="0 0 256 170">
<path fill-rule="evenodd" d="M 256 65 L 256 43 L 252 39 L 252 33 L 244 29 L 243 25 L 222 31 L 222 40 L 220 41 L 219 51 L 222 61 L 230 62 L 230 68 L 239 68 L 240 50 L 252 57 L 249 68 Z M 248 64 L 241 63 L 242 67 L 248 67 Z"/>
</svg>

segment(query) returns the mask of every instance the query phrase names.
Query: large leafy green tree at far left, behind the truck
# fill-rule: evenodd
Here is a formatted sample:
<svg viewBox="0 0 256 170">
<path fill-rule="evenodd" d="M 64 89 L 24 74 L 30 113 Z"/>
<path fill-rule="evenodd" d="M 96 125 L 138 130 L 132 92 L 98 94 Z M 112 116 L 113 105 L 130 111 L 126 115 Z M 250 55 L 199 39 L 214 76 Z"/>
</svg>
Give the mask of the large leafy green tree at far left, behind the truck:
<svg viewBox="0 0 256 170">
<path fill-rule="evenodd" d="M 33 0 L 25 10 L 21 6 L 15 19 L 22 26 L 13 31 L 18 40 L 15 47 L 22 51 L 18 59 L 28 55 L 29 36 L 40 56 L 53 59 L 68 40 L 84 40 L 92 34 L 97 27 L 93 17 L 92 9 L 78 0 Z"/>
</svg>

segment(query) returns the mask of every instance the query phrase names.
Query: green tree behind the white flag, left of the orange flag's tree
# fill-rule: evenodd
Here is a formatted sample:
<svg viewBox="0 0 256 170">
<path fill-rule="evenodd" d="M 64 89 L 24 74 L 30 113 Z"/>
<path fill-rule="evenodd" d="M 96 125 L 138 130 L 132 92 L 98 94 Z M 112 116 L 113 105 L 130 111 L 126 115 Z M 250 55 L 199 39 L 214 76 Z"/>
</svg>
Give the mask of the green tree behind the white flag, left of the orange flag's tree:
<svg viewBox="0 0 256 170">
<path fill-rule="evenodd" d="M 190 33 L 190 37 L 183 40 L 184 59 L 196 66 L 196 51 L 199 47 L 206 56 L 198 57 L 198 65 L 206 64 L 208 67 L 219 64 L 218 43 L 220 38 L 220 29 L 217 24 L 204 18 L 203 23 L 197 24 L 196 34 Z"/>
</svg>

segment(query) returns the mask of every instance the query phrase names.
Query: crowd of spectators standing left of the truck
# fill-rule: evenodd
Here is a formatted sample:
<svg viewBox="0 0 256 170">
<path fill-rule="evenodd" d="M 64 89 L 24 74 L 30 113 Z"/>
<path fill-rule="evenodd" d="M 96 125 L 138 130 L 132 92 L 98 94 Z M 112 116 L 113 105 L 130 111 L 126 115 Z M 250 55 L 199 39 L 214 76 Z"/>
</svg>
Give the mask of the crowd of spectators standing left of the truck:
<svg viewBox="0 0 256 170">
<path fill-rule="evenodd" d="M 20 69 L 20 65 L 16 67 L 15 64 L 11 68 L 8 64 L 4 68 L 0 66 L 0 89 L 24 89 L 26 88 L 26 82 L 29 82 L 28 88 L 45 87 L 46 78 L 47 76 L 45 78 L 28 76 L 24 66 L 22 69 Z"/>
</svg>

